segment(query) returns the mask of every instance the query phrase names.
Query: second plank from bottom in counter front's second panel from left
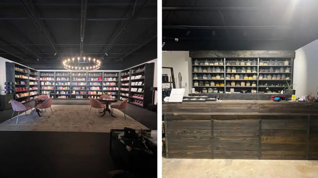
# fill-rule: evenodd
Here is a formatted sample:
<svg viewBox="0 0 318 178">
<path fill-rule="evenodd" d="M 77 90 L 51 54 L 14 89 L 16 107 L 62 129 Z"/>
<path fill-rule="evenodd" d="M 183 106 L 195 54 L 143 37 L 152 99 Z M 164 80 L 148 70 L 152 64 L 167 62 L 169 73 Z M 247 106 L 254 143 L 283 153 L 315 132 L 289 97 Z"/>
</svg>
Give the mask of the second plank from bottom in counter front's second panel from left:
<svg viewBox="0 0 318 178">
<path fill-rule="evenodd" d="M 258 143 L 214 143 L 214 150 L 252 150 L 258 151 Z"/>
</svg>

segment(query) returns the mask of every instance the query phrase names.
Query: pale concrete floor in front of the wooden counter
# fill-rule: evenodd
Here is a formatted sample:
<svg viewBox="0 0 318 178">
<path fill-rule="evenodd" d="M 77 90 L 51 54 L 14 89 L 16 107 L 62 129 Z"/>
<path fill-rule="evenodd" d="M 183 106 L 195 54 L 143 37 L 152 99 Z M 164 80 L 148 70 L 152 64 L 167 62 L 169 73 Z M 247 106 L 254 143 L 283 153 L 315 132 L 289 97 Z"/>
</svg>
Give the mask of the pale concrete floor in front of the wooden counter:
<svg viewBox="0 0 318 178">
<path fill-rule="evenodd" d="M 318 161 L 165 159 L 162 178 L 318 178 Z"/>
</svg>

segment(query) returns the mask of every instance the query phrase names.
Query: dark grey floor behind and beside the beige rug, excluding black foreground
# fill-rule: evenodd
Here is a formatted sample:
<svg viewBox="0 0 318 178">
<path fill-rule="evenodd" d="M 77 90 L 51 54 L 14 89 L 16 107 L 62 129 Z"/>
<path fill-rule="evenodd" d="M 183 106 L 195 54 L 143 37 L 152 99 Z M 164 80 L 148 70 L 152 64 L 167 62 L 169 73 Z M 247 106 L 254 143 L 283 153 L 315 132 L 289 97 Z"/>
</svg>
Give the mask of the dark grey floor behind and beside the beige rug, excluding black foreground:
<svg viewBox="0 0 318 178">
<path fill-rule="evenodd" d="M 114 103 L 115 104 L 119 104 Z M 89 105 L 88 99 L 53 99 L 53 105 Z M 10 119 L 13 110 L 0 111 L 0 123 Z M 14 113 L 17 116 L 18 112 Z M 126 107 L 126 114 L 150 130 L 157 130 L 157 113 L 147 109 L 129 104 Z"/>
</svg>

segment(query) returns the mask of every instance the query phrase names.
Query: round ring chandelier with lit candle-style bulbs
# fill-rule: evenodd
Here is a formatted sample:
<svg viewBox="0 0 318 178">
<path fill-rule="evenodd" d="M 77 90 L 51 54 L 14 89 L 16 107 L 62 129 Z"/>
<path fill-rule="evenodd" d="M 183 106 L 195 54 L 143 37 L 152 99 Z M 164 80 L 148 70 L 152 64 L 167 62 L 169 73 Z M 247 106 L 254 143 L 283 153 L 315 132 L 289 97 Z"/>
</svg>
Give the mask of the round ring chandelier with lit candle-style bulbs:
<svg viewBox="0 0 318 178">
<path fill-rule="evenodd" d="M 67 70 L 73 71 L 92 71 L 100 68 L 99 59 L 90 57 L 75 57 L 63 60 L 63 66 Z"/>
</svg>

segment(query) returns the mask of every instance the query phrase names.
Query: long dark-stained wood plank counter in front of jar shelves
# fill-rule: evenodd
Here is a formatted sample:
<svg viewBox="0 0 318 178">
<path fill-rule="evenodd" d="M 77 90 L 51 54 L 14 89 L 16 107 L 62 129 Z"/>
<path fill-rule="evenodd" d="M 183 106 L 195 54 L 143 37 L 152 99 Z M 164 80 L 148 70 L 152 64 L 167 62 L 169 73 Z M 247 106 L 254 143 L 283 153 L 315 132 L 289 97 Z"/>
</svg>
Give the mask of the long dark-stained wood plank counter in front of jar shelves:
<svg viewBox="0 0 318 178">
<path fill-rule="evenodd" d="M 162 103 L 167 158 L 318 160 L 318 104 Z"/>
</svg>

